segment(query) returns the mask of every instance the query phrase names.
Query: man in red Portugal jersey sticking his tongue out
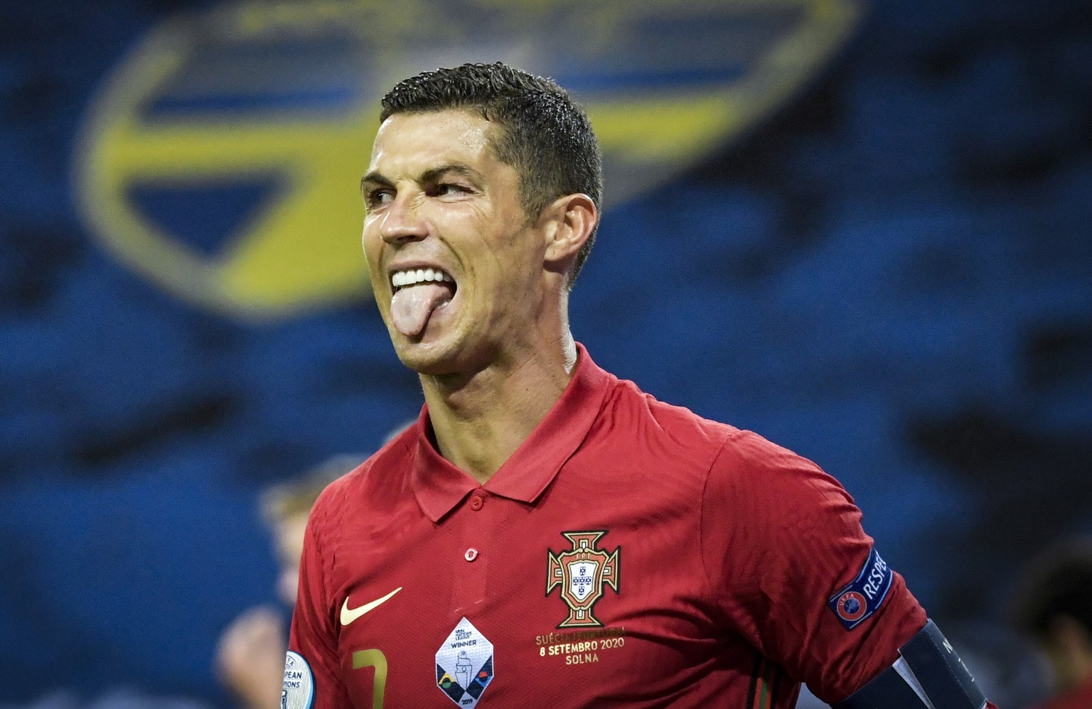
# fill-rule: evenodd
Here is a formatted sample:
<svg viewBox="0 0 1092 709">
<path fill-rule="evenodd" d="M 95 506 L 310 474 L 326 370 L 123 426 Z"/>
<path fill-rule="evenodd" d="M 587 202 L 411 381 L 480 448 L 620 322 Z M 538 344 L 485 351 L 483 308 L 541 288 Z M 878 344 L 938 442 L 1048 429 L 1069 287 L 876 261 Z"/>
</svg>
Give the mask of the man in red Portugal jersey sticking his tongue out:
<svg viewBox="0 0 1092 709">
<path fill-rule="evenodd" d="M 600 176 L 549 80 L 383 98 L 364 249 L 425 406 L 316 505 L 283 706 L 981 709 L 833 479 L 573 340 Z"/>
</svg>

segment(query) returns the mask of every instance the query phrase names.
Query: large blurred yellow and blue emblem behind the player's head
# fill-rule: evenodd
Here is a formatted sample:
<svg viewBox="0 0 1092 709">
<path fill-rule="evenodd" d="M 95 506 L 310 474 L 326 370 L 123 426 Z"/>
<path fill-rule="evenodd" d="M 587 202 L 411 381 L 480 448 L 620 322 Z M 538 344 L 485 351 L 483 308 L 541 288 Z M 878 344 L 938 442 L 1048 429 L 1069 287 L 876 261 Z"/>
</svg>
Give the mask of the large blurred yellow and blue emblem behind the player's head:
<svg viewBox="0 0 1092 709">
<path fill-rule="evenodd" d="M 253 0 L 179 14 L 90 108 L 81 212 L 130 267 L 224 313 L 359 299 L 357 184 L 399 79 L 498 59 L 556 77 L 589 109 L 615 204 L 781 105 L 859 2 Z"/>
</svg>

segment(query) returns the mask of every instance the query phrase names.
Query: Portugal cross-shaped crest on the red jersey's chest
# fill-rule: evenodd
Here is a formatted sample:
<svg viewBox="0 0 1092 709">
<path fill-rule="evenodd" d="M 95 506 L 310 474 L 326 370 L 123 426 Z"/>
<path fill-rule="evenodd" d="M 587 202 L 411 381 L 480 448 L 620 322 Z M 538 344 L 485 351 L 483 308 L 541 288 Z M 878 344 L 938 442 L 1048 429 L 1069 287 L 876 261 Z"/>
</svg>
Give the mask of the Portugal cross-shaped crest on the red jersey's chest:
<svg viewBox="0 0 1092 709">
<path fill-rule="evenodd" d="M 546 596 L 560 587 L 561 600 L 569 606 L 569 616 L 558 624 L 559 628 L 603 625 L 592 610 L 603 597 L 605 585 L 618 592 L 618 557 L 621 553 L 621 548 L 610 553 L 595 548 L 605 533 L 606 530 L 561 532 L 572 543 L 572 549 L 560 554 L 546 552 Z"/>
</svg>

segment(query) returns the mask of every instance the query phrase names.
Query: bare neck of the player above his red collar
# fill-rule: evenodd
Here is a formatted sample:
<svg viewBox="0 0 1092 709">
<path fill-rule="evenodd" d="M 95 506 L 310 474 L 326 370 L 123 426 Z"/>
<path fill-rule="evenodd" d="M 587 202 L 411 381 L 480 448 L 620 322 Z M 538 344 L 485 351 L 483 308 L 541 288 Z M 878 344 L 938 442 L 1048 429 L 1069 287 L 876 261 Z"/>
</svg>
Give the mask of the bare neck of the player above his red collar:
<svg viewBox="0 0 1092 709">
<path fill-rule="evenodd" d="M 440 455 L 485 484 L 561 397 L 575 364 L 577 345 L 566 328 L 555 343 L 498 358 L 473 374 L 422 375 Z"/>
</svg>

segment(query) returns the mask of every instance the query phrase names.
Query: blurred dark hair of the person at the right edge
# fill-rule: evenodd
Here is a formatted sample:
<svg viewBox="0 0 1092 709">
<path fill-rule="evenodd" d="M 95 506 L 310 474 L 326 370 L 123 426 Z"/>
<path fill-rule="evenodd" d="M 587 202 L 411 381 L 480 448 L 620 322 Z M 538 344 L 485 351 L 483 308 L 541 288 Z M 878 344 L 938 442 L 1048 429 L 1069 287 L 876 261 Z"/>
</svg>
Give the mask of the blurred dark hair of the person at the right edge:
<svg viewBox="0 0 1092 709">
<path fill-rule="evenodd" d="M 1059 616 L 1077 621 L 1092 634 L 1092 539 L 1067 539 L 1033 560 L 1011 613 L 1018 628 L 1038 639 L 1048 637 Z"/>
</svg>

